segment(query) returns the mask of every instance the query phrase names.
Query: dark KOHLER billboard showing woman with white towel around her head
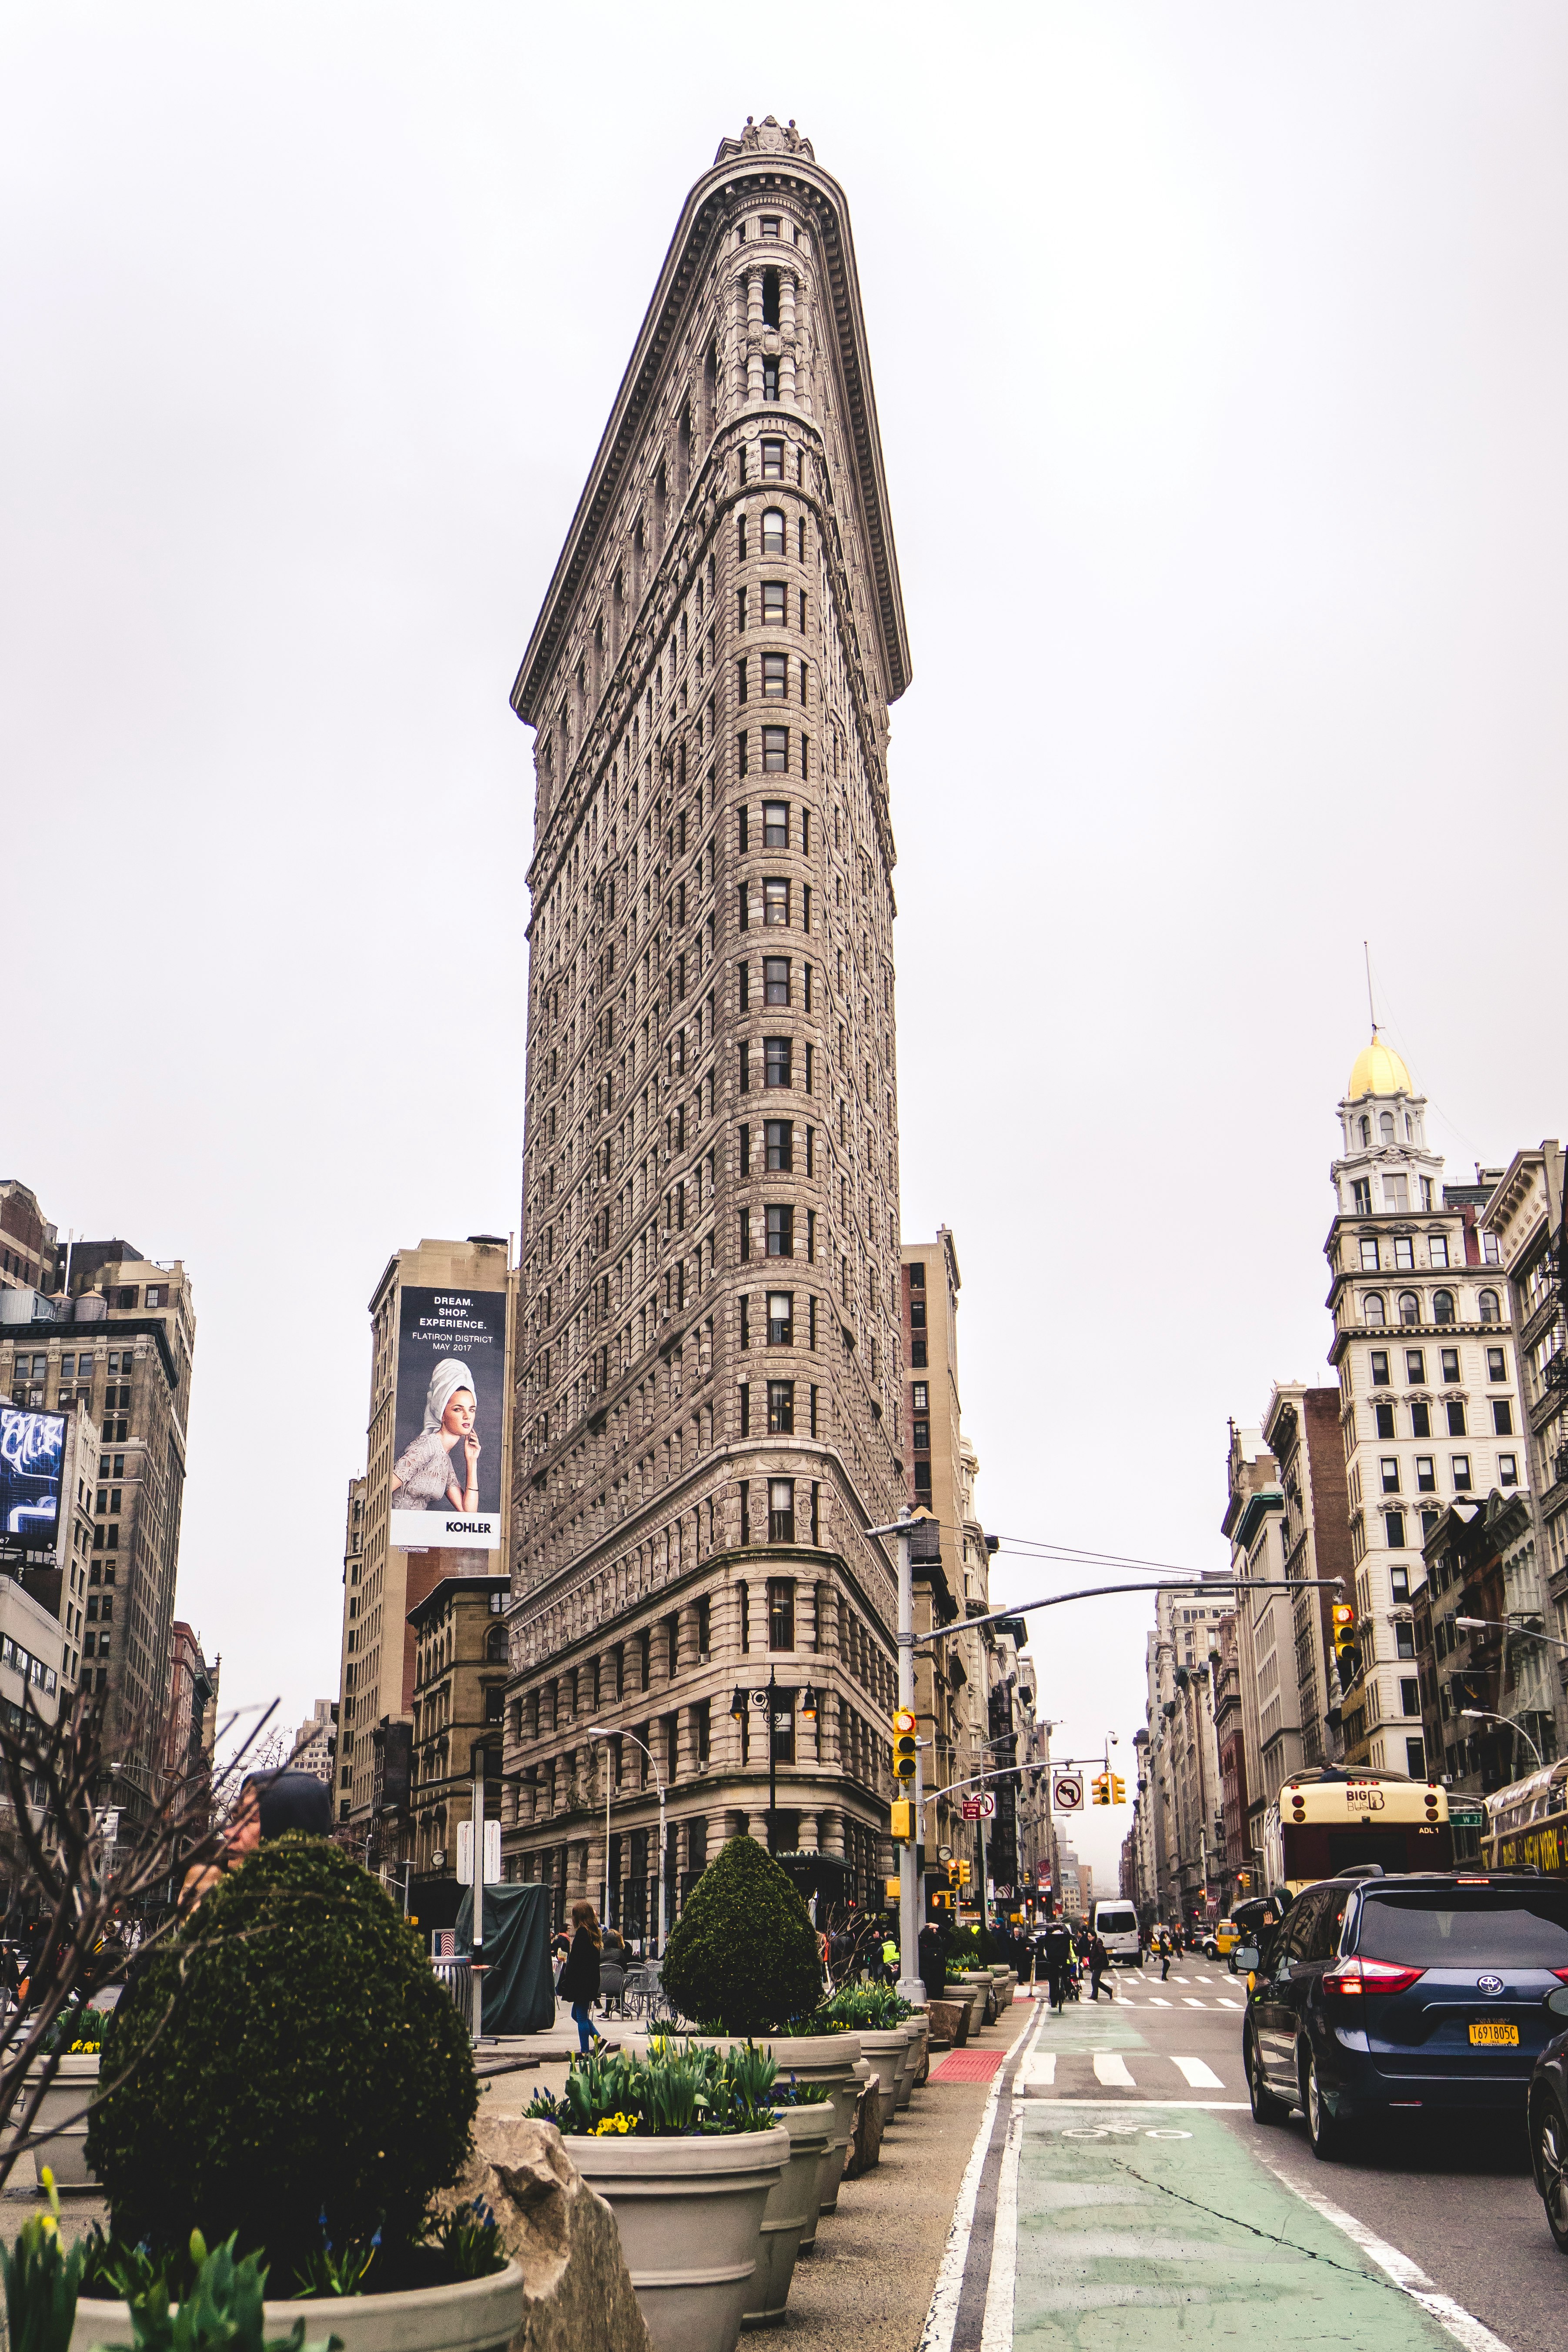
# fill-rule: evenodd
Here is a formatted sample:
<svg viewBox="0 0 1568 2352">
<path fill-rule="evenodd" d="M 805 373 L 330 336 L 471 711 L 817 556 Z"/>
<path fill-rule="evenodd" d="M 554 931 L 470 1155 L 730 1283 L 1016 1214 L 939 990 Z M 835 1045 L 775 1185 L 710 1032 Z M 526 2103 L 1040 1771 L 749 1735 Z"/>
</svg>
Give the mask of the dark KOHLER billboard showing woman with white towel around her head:
<svg viewBox="0 0 1568 2352">
<path fill-rule="evenodd" d="M 404 1289 L 390 1541 L 501 1550 L 505 1291 Z"/>
</svg>

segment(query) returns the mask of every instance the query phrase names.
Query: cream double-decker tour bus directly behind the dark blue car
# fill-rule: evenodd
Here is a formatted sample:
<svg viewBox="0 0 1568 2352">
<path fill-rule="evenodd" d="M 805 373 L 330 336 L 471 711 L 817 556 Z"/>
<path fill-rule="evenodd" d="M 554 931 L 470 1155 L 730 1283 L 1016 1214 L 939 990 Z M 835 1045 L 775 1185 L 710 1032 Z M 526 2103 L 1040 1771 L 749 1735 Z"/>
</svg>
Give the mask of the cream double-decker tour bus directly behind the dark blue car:
<svg viewBox="0 0 1568 2352">
<path fill-rule="evenodd" d="M 1450 1870 L 1448 1792 L 1396 1771 L 1316 1764 L 1293 1773 L 1262 1820 L 1269 1893 L 1295 1896 L 1356 1863 Z"/>
</svg>

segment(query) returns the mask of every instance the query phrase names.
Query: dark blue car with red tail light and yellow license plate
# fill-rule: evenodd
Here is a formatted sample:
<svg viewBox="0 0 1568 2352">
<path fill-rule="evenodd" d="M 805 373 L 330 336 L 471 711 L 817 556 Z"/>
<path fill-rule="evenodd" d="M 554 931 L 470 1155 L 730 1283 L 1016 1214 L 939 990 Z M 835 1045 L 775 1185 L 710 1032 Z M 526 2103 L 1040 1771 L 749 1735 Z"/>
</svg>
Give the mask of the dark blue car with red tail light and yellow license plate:
<svg viewBox="0 0 1568 2352">
<path fill-rule="evenodd" d="M 1241 2056 L 1258 2124 L 1300 2107 L 1319 2157 L 1399 2110 L 1523 2117 L 1568 1983 L 1568 1882 L 1352 1875 L 1305 1886 L 1255 1947 Z"/>
</svg>

